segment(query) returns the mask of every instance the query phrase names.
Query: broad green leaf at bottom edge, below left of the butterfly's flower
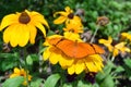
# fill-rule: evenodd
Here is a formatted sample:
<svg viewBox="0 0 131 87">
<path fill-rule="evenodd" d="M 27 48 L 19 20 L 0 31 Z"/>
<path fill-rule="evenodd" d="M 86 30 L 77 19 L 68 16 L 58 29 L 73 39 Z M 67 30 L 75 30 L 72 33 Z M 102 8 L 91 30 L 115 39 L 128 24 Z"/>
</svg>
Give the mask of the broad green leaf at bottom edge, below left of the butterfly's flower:
<svg viewBox="0 0 131 87">
<path fill-rule="evenodd" d="M 60 79 L 59 74 L 52 74 L 46 79 L 44 87 L 55 87 L 59 79 Z"/>
</svg>

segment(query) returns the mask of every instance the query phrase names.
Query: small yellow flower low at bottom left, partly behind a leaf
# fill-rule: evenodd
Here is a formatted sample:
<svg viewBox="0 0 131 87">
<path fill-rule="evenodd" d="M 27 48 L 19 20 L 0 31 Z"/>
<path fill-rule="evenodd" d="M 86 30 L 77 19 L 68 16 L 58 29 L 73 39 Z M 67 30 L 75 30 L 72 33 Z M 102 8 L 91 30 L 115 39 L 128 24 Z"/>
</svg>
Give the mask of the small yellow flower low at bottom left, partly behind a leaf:
<svg viewBox="0 0 131 87">
<path fill-rule="evenodd" d="M 32 76 L 31 76 L 29 74 L 27 75 L 27 73 L 25 72 L 24 69 L 14 67 L 13 73 L 10 75 L 10 78 L 16 77 L 16 76 L 23 76 L 23 77 L 24 77 L 24 79 L 25 79 L 24 83 L 23 83 L 24 86 L 27 85 L 26 76 L 28 76 L 28 77 L 27 77 L 28 80 L 32 79 Z"/>
</svg>

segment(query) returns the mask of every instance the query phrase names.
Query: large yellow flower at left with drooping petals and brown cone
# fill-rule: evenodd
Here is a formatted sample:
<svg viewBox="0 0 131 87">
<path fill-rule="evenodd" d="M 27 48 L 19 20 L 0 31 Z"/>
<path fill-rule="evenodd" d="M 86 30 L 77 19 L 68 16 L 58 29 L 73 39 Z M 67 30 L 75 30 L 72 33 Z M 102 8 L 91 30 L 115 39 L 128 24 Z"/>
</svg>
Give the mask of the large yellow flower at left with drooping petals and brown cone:
<svg viewBox="0 0 131 87">
<path fill-rule="evenodd" d="M 31 44 L 35 44 L 35 37 L 37 29 L 39 28 L 44 37 L 46 36 L 45 26 L 49 28 L 49 25 L 45 17 L 35 11 L 25 10 L 22 13 L 5 15 L 0 25 L 0 30 L 3 32 L 3 40 L 5 44 L 11 44 L 12 47 L 17 45 L 24 47 L 28 40 Z"/>
</svg>

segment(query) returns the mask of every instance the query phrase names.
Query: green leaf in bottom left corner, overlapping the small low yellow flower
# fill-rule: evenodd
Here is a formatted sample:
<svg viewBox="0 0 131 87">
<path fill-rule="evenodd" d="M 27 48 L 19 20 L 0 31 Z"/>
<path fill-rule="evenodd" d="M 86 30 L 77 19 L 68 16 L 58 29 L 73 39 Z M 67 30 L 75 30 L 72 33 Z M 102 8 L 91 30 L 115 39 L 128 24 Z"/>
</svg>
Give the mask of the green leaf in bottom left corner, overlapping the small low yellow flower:
<svg viewBox="0 0 131 87">
<path fill-rule="evenodd" d="M 24 77 L 23 76 L 16 76 L 16 77 L 7 79 L 2 84 L 2 87 L 20 87 L 23 82 L 24 82 Z"/>
</svg>

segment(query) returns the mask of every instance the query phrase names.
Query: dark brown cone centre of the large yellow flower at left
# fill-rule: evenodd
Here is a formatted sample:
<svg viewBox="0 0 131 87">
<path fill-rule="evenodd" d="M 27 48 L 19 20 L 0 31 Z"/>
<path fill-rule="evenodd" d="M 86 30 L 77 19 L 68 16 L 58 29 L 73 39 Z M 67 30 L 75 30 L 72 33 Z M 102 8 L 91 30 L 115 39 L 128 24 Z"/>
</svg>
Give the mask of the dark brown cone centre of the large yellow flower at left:
<svg viewBox="0 0 131 87">
<path fill-rule="evenodd" d="M 19 22 L 22 24 L 27 24 L 31 21 L 29 15 L 26 12 L 22 12 L 22 14 L 19 17 Z"/>
</svg>

